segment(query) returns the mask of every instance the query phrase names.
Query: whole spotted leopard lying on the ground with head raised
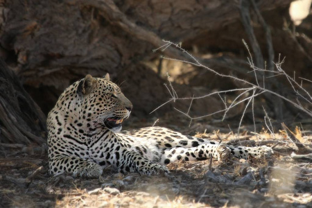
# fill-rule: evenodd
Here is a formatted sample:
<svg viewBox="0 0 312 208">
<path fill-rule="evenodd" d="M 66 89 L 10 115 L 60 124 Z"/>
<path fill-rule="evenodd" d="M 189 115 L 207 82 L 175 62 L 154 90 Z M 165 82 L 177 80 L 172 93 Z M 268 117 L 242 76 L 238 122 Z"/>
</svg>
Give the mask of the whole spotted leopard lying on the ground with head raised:
<svg viewBox="0 0 312 208">
<path fill-rule="evenodd" d="M 229 146 L 159 126 L 121 131 L 132 107 L 108 73 L 88 74 L 67 87 L 46 120 L 49 173 L 96 178 L 110 166 L 118 173 L 151 175 L 169 173 L 167 165 L 177 161 L 222 162 L 273 153 L 268 146 Z"/>
</svg>

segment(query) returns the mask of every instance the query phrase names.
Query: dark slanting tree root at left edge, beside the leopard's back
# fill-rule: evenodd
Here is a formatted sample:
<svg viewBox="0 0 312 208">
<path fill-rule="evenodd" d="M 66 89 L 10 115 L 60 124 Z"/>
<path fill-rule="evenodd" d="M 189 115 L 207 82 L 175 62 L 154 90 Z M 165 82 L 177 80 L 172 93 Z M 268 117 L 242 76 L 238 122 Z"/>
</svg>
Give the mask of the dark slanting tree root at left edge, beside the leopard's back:
<svg viewBox="0 0 312 208">
<path fill-rule="evenodd" d="M 45 116 L 19 83 L 15 73 L 0 59 L 0 141 L 42 144 Z"/>
</svg>

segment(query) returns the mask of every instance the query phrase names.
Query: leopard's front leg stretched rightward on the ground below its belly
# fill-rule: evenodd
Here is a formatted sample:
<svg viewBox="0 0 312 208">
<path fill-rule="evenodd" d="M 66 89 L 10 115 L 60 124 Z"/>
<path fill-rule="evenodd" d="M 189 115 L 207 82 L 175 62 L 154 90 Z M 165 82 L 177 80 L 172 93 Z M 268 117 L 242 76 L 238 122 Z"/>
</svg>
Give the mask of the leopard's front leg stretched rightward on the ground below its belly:
<svg viewBox="0 0 312 208">
<path fill-rule="evenodd" d="M 142 157 L 139 153 L 135 153 L 131 150 L 125 150 L 120 165 L 117 167 L 121 173 L 125 172 L 138 172 L 140 174 L 157 174 L 168 173 L 166 166 L 162 166 L 156 162 L 152 162 L 145 157 Z"/>
</svg>

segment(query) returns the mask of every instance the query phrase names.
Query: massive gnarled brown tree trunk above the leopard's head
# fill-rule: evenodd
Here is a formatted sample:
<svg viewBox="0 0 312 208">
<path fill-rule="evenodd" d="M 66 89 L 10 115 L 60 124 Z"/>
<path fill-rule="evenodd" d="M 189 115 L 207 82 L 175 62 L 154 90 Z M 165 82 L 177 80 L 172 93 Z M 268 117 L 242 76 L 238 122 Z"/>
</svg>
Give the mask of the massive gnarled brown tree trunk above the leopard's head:
<svg viewBox="0 0 312 208">
<path fill-rule="evenodd" d="M 261 10 L 288 1 L 259 1 Z M 60 88 L 149 57 L 162 39 L 187 41 L 239 21 L 236 1 L 8 1 L 1 46 L 29 85 Z M 203 18 L 205 17 L 205 18 Z M 209 45 L 209 42 L 206 44 Z M 170 56 L 183 58 L 174 49 Z M 38 79 L 40 77 L 40 79 Z"/>
</svg>

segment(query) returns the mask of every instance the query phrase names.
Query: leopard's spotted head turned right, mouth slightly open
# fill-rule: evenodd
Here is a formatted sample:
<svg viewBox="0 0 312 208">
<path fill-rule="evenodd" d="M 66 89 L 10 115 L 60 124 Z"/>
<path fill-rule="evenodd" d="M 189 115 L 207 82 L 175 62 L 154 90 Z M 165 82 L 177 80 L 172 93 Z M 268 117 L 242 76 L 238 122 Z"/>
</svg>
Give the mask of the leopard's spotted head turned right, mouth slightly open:
<svg viewBox="0 0 312 208">
<path fill-rule="evenodd" d="M 108 128 L 119 132 L 124 119 L 128 119 L 132 103 L 121 89 L 110 81 L 110 76 L 85 76 L 76 84 L 76 110 L 89 128 Z"/>
</svg>

